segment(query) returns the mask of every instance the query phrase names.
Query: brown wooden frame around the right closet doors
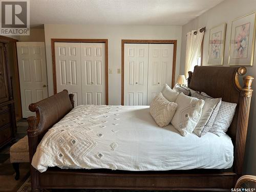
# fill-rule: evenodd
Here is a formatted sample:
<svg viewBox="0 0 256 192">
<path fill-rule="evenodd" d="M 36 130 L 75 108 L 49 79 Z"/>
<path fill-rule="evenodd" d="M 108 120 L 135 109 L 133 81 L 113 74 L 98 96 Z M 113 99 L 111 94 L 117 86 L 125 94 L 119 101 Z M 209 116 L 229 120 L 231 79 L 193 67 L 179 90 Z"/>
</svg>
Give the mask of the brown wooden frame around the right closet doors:
<svg viewBox="0 0 256 192">
<path fill-rule="evenodd" d="M 177 40 L 141 40 L 141 39 L 122 39 L 122 56 L 121 56 L 121 105 L 124 105 L 124 44 L 173 44 L 173 69 L 172 69 L 172 88 L 175 82 L 175 70 L 176 70 L 176 52 L 177 52 Z"/>
</svg>

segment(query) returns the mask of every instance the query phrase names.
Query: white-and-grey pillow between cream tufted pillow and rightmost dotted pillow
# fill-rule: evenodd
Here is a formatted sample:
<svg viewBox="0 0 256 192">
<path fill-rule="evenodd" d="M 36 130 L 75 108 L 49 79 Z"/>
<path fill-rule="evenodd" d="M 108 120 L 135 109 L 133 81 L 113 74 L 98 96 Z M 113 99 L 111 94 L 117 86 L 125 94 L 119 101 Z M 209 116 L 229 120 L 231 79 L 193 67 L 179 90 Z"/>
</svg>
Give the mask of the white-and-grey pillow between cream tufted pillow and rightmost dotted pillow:
<svg viewBox="0 0 256 192">
<path fill-rule="evenodd" d="M 202 137 L 210 130 L 210 127 L 214 124 L 218 111 L 221 105 L 221 98 L 213 99 L 207 96 L 200 95 L 197 92 L 191 94 L 191 97 L 203 99 L 205 101 L 202 115 L 194 130 L 194 133 L 199 137 Z"/>
</svg>

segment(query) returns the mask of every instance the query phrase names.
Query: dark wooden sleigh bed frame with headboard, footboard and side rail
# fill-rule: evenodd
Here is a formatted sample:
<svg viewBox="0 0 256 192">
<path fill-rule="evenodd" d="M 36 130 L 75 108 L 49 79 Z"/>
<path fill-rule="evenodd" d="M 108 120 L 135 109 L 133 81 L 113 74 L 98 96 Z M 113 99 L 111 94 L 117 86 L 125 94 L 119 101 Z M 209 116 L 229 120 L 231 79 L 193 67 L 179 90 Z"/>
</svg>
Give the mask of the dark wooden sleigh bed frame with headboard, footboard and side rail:
<svg viewBox="0 0 256 192">
<path fill-rule="evenodd" d="M 129 172 L 49 167 L 46 172 L 39 173 L 31 166 L 32 191 L 40 191 L 42 188 L 230 191 L 242 174 L 244 161 L 253 80 L 253 77 L 245 76 L 244 85 L 241 87 L 239 76 L 245 73 L 245 67 L 197 66 L 194 74 L 189 72 L 188 77 L 188 86 L 191 89 L 203 91 L 212 97 L 221 97 L 227 102 L 238 103 L 228 130 L 234 145 L 232 168 Z M 36 112 L 36 117 L 28 118 L 30 162 L 45 133 L 72 108 L 73 94 L 68 94 L 67 90 L 30 104 L 30 111 Z"/>
</svg>

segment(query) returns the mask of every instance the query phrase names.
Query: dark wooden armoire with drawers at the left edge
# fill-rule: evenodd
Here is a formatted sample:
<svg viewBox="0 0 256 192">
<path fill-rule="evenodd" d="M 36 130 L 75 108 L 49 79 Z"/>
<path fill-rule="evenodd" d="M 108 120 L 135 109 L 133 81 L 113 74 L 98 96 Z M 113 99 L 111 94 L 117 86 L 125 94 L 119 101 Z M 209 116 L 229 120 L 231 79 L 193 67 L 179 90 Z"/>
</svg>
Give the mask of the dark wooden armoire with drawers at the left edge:
<svg viewBox="0 0 256 192">
<path fill-rule="evenodd" d="M 8 66 L 8 39 L 0 36 L 0 148 L 15 138 L 14 100 Z"/>
</svg>

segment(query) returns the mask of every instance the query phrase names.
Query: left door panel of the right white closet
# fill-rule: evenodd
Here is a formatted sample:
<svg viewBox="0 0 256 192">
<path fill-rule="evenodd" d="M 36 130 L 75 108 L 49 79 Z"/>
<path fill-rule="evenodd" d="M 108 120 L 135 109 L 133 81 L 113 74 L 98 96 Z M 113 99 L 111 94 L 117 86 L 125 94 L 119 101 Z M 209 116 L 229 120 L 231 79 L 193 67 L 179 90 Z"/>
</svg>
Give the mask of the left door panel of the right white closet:
<svg viewBox="0 0 256 192">
<path fill-rule="evenodd" d="M 124 105 L 147 104 L 148 44 L 124 44 Z"/>
</svg>

